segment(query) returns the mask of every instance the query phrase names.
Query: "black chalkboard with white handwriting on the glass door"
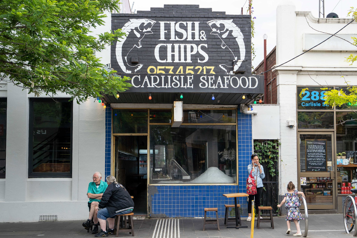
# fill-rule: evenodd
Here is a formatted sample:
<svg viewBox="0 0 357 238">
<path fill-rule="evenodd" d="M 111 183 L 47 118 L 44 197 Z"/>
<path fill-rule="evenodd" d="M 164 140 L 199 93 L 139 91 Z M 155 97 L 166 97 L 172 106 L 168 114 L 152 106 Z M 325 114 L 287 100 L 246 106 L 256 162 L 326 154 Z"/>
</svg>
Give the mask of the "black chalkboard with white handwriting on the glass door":
<svg viewBox="0 0 357 238">
<path fill-rule="evenodd" d="M 306 171 L 327 171 L 326 141 L 327 140 L 305 140 Z"/>
</svg>

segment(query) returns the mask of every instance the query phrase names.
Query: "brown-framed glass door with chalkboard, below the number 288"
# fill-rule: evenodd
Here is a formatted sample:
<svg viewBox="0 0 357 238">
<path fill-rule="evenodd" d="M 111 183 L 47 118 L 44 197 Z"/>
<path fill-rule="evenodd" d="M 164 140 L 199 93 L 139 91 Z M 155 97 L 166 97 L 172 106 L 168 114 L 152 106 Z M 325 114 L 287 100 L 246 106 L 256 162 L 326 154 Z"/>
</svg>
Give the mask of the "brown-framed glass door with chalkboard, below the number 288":
<svg viewBox="0 0 357 238">
<path fill-rule="evenodd" d="M 298 190 L 309 209 L 336 209 L 333 132 L 298 132 Z"/>
</svg>

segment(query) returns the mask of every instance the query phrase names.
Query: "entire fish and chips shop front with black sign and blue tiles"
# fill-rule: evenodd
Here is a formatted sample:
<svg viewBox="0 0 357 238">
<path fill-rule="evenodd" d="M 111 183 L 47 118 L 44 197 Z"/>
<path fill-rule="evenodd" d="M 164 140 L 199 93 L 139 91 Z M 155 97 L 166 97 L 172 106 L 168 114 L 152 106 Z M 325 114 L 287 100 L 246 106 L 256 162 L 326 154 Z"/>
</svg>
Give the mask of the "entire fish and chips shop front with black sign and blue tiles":
<svg viewBox="0 0 357 238">
<path fill-rule="evenodd" d="M 111 45 L 109 67 L 132 87 L 101 98 L 105 175 L 134 196 L 137 214 L 203 217 L 218 207 L 224 216 L 232 201 L 222 194 L 246 191 L 258 117 L 249 105 L 264 92 L 251 75 L 250 15 L 164 5 L 111 23 L 126 36 Z"/>
</svg>

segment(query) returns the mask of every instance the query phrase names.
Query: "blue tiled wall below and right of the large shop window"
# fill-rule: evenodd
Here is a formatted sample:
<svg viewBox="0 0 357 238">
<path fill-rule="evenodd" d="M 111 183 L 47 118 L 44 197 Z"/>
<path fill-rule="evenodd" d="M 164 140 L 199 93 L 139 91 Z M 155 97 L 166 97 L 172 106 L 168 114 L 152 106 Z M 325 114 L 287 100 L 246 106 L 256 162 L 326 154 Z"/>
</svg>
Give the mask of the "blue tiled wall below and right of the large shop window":
<svg viewBox="0 0 357 238">
<path fill-rule="evenodd" d="M 150 215 L 167 217 L 203 217 L 203 208 L 217 207 L 218 216 L 224 217 L 224 204 L 233 204 L 233 198 L 225 198 L 223 193 L 246 192 L 247 166 L 251 163 L 252 117 L 237 115 L 238 128 L 238 186 L 237 185 L 169 185 L 155 186 L 157 192 L 150 194 Z M 149 189 L 152 191 L 152 189 Z M 242 216 L 247 215 L 247 198 L 239 198 Z M 214 216 L 214 214 L 208 214 Z"/>
</svg>

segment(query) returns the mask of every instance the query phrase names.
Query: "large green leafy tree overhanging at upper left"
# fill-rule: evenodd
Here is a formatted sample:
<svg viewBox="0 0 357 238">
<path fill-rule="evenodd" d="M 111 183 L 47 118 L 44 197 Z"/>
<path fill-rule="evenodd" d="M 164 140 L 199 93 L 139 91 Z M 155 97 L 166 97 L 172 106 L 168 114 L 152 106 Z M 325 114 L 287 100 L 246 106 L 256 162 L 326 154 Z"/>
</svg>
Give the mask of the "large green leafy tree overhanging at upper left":
<svg viewBox="0 0 357 238">
<path fill-rule="evenodd" d="M 106 71 L 95 55 L 125 33 L 90 35 L 91 27 L 104 25 L 104 12 L 118 5 L 119 0 L 1 0 L 0 80 L 36 96 L 67 93 L 77 103 L 126 90 L 127 78 Z"/>
</svg>

